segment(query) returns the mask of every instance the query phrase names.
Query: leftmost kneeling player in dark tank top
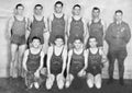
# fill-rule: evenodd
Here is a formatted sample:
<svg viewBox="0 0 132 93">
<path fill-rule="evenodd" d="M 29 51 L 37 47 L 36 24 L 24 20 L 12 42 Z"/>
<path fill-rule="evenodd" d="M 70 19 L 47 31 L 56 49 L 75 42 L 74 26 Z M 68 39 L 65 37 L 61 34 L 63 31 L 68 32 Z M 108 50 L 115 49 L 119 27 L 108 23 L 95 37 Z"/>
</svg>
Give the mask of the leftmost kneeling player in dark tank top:
<svg viewBox="0 0 132 93">
<path fill-rule="evenodd" d="M 31 89 L 34 84 L 36 89 L 40 88 L 40 71 L 43 68 L 44 53 L 42 51 L 41 38 L 32 38 L 32 47 L 26 49 L 23 58 L 23 68 L 25 70 L 25 84 Z"/>
</svg>

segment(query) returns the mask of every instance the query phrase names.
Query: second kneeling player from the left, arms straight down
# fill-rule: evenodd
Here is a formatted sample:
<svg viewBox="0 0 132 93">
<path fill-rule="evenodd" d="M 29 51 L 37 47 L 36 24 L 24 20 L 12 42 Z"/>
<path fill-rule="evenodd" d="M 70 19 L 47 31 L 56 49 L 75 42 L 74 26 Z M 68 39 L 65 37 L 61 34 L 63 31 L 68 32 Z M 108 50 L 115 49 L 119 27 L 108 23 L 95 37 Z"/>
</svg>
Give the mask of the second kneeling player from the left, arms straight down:
<svg viewBox="0 0 132 93">
<path fill-rule="evenodd" d="M 64 37 L 62 35 L 57 35 L 54 45 L 52 45 L 47 51 L 47 90 L 51 90 L 55 82 L 59 90 L 64 88 L 66 58 L 67 49 L 64 46 Z"/>
</svg>

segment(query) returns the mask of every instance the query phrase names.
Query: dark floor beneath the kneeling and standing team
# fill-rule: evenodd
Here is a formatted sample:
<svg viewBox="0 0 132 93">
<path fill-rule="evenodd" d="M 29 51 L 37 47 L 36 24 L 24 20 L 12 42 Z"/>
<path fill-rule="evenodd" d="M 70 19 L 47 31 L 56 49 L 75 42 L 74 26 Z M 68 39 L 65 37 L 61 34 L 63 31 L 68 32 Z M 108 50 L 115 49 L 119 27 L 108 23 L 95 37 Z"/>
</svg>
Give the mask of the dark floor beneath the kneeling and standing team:
<svg viewBox="0 0 132 93">
<path fill-rule="evenodd" d="M 32 89 L 26 90 L 23 80 L 8 80 L 0 79 L 0 93 L 132 93 L 132 80 L 125 80 L 125 85 L 120 85 L 118 80 L 113 84 L 107 84 L 108 80 L 103 80 L 102 88 L 97 90 L 96 88 L 89 89 L 85 82 L 81 80 L 79 84 L 76 82 L 69 89 L 64 89 L 62 91 L 57 90 L 56 85 L 53 90 L 47 91 L 43 84 L 38 90 Z"/>
</svg>

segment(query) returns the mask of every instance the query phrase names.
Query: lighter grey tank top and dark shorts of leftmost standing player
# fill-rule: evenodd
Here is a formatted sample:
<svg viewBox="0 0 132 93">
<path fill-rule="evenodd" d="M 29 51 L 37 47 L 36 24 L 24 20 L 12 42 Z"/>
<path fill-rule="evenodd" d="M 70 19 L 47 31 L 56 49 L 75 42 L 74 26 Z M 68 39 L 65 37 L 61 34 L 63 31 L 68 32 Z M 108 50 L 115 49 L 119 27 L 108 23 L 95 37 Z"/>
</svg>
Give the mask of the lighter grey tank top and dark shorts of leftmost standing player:
<svg viewBox="0 0 132 93">
<path fill-rule="evenodd" d="M 25 18 L 23 19 L 23 21 L 19 21 L 14 16 L 14 22 L 11 28 L 11 43 L 16 45 L 24 45 L 26 43 L 25 31 L 26 31 Z"/>
</svg>

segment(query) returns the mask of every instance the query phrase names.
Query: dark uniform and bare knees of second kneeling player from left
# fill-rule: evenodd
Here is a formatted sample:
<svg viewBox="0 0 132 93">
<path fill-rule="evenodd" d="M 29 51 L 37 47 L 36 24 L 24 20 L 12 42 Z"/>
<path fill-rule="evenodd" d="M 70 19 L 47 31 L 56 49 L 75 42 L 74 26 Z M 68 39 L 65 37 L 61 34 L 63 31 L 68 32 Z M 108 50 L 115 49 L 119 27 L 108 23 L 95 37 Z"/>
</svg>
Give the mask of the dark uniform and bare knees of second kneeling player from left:
<svg viewBox="0 0 132 93">
<path fill-rule="evenodd" d="M 55 55 L 55 46 L 53 46 L 53 55 L 52 55 L 52 58 L 51 58 L 51 75 L 47 78 L 47 81 L 46 81 L 46 86 L 47 89 L 50 90 L 53 84 L 56 85 L 59 88 L 59 89 L 63 89 L 64 86 L 64 74 L 61 75 L 62 73 L 62 70 L 63 70 L 63 51 L 64 51 L 64 47 L 62 49 L 62 53 L 56 56 Z"/>
</svg>

